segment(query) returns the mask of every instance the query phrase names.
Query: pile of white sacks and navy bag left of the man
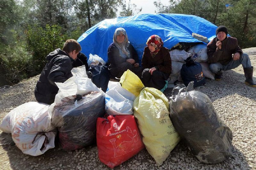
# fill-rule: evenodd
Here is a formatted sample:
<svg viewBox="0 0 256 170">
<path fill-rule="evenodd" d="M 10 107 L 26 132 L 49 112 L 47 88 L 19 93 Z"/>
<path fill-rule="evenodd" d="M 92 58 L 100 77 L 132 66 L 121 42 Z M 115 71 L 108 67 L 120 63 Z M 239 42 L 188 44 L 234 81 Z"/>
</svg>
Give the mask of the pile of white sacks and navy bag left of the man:
<svg viewBox="0 0 256 170">
<path fill-rule="evenodd" d="M 215 80 L 210 71 L 206 44 L 197 44 L 189 48 L 170 51 L 172 59 L 172 73 L 169 84 L 182 81 L 186 86 L 194 81 L 194 87 L 205 83 L 205 78 Z"/>
</svg>

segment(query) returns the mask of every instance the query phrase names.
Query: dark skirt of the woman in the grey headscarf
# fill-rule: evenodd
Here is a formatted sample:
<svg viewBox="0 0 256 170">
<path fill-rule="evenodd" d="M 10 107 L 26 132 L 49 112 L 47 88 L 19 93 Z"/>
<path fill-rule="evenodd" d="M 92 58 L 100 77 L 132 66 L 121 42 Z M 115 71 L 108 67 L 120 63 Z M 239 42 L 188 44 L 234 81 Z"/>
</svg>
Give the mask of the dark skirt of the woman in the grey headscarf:
<svg viewBox="0 0 256 170">
<path fill-rule="evenodd" d="M 133 67 L 131 63 L 122 63 L 118 66 L 110 66 L 109 73 L 110 73 L 110 79 L 115 79 L 120 77 L 124 74 L 125 71 L 131 70 L 133 73 L 135 73 L 139 78 L 141 78 L 141 74 L 143 71 L 142 67 Z"/>
</svg>

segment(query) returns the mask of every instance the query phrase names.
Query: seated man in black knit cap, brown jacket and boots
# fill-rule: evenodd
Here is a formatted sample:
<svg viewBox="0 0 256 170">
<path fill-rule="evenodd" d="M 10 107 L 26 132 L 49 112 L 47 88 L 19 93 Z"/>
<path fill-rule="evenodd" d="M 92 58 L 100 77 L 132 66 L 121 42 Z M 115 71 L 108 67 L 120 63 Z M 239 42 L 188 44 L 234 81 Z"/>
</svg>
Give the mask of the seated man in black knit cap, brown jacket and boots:
<svg viewBox="0 0 256 170">
<path fill-rule="evenodd" d="M 244 68 L 244 83 L 256 87 L 253 82 L 253 67 L 250 58 L 238 46 L 236 38 L 229 37 L 225 26 L 216 29 L 216 37 L 207 44 L 207 55 L 210 70 L 215 73 L 215 80 L 221 80 L 222 71 L 231 70 L 242 64 Z"/>
</svg>

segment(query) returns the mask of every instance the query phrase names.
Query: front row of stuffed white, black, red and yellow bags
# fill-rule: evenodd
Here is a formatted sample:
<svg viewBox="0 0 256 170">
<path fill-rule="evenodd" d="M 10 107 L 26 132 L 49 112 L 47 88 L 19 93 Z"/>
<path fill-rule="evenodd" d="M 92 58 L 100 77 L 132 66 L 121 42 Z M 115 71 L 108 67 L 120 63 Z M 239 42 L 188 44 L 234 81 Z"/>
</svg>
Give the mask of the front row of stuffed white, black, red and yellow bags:
<svg viewBox="0 0 256 170">
<path fill-rule="evenodd" d="M 204 163 L 231 155 L 232 132 L 193 82 L 176 86 L 168 101 L 161 91 L 144 87 L 130 70 L 119 82 L 109 81 L 106 93 L 87 77 L 85 67 L 73 68 L 72 74 L 56 83 L 53 104 L 28 102 L 4 117 L 0 129 L 12 134 L 23 153 L 43 154 L 54 148 L 58 135 L 66 151 L 97 142 L 99 159 L 110 168 L 143 148 L 160 166 L 180 139 Z"/>
</svg>

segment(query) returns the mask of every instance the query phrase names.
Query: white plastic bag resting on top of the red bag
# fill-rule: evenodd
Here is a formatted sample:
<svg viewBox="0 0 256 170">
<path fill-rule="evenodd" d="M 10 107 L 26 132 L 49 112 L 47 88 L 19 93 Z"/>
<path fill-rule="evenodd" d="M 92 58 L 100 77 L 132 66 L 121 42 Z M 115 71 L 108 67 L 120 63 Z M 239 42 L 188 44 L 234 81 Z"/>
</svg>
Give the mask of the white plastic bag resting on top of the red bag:
<svg viewBox="0 0 256 170">
<path fill-rule="evenodd" d="M 135 96 L 121 87 L 120 83 L 106 92 L 105 111 L 108 115 L 133 114 Z"/>
</svg>

